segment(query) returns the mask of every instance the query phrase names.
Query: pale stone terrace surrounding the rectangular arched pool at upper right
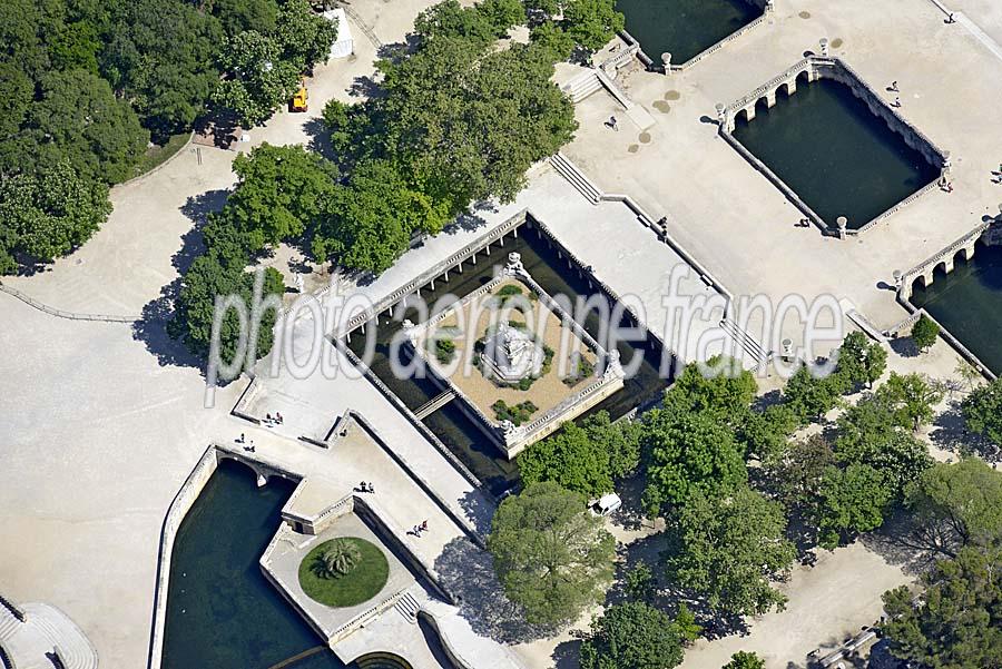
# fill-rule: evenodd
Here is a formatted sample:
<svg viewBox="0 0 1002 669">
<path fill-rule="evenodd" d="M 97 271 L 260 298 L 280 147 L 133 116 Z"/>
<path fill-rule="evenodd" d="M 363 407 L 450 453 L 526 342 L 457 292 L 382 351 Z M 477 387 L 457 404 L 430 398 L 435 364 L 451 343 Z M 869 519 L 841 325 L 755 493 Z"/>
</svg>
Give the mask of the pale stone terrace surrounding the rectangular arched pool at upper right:
<svg viewBox="0 0 1002 669">
<path fill-rule="evenodd" d="M 806 50 L 817 51 L 823 37 L 832 55 L 874 88 L 897 80 L 897 111 L 951 151 L 955 190 L 920 198 L 863 239 L 839 242 L 794 227 L 797 209 L 717 136 L 710 119 L 717 102 L 741 97 Z M 657 119 L 649 137 L 628 121 L 619 132 L 603 127 L 622 108 L 599 92 L 578 105 L 581 129 L 564 153 L 602 189 L 631 195 L 655 217 L 667 215 L 669 233 L 735 293 L 831 293 L 886 327 L 906 314 L 880 282 L 893 283 L 894 269 L 999 213 L 1002 191 L 990 170 L 1000 156 L 984 138 L 1002 134 L 994 105 L 1000 73 L 1002 61 L 964 26 L 945 24 L 929 0 L 779 0 L 766 26 L 682 75 L 625 75 L 628 95 Z"/>
</svg>

